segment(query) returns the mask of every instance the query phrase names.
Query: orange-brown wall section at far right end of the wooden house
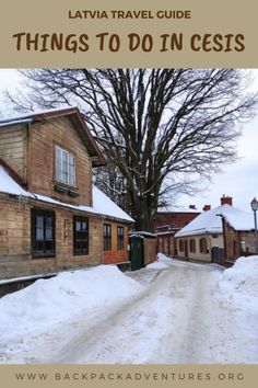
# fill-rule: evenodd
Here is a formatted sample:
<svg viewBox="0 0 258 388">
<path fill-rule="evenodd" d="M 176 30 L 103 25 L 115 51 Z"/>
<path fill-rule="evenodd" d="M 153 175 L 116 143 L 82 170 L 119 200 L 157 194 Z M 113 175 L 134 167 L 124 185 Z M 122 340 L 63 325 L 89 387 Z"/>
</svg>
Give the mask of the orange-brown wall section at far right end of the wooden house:
<svg viewBox="0 0 258 388">
<path fill-rule="evenodd" d="M 129 260 L 129 252 L 128 252 L 128 244 L 129 244 L 129 237 L 128 237 L 128 226 L 125 224 L 119 224 L 116 221 L 105 220 L 106 224 L 112 225 L 112 249 L 109 251 L 104 251 L 104 264 L 116 264 L 122 263 Z M 117 250 L 117 227 L 124 227 L 125 232 L 125 249 Z"/>
</svg>

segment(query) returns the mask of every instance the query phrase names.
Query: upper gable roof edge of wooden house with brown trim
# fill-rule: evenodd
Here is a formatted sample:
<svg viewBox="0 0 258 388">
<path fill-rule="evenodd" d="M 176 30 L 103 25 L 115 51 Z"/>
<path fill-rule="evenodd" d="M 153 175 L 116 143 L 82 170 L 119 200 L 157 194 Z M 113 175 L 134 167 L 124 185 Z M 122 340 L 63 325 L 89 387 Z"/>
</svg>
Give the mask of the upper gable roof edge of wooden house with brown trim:
<svg viewBox="0 0 258 388">
<path fill-rule="evenodd" d="M 75 106 L 55 109 L 48 111 L 38 111 L 38 112 L 32 112 L 19 116 L 1 118 L 0 127 L 24 124 L 24 123 L 36 123 L 36 122 L 42 122 L 42 121 L 51 119 L 56 117 L 63 117 L 63 116 L 67 116 L 71 121 L 75 130 L 81 136 L 92 158 L 93 166 L 95 167 L 104 166 L 105 164 L 104 157 L 101 150 L 98 149 L 95 139 L 90 133 L 90 129 L 87 128 L 86 123 L 84 122 L 80 111 Z"/>
</svg>

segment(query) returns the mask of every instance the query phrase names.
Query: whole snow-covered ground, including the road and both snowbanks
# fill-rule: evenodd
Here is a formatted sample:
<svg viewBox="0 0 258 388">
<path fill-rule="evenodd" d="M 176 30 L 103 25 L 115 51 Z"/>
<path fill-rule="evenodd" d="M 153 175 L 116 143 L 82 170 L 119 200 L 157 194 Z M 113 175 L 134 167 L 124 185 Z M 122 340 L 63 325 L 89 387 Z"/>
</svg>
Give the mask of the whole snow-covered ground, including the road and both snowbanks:
<svg viewBox="0 0 258 388">
<path fill-rule="evenodd" d="M 258 362 L 258 256 L 66 272 L 0 299 L 0 363 Z"/>
</svg>

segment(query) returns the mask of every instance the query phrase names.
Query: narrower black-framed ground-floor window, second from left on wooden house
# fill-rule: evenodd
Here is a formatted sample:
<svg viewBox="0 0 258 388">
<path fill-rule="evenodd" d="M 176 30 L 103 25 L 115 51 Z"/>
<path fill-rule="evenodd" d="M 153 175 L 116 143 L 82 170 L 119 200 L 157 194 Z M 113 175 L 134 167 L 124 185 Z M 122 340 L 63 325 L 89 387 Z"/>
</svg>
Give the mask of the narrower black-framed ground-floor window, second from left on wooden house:
<svg viewBox="0 0 258 388">
<path fill-rule="evenodd" d="M 73 217 L 73 255 L 89 254 L 89 220 Z"/>
</svg>

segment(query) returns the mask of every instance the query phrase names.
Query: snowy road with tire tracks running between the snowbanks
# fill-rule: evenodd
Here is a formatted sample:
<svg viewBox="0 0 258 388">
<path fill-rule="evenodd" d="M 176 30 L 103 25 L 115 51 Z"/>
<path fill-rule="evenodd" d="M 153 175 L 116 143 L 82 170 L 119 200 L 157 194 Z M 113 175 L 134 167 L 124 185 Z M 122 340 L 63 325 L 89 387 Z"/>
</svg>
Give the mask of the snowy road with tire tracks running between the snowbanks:
<svg viewBox="0 0 258 388">
<path fill-rule="evenodd" d="M 90 330 L 79 330 L 51 362 L 181 364 L 251 360 L 249 340 L 238 328 L 236 307 L 218 298 L 218 266 L 174 262 L 152 272 L 143 292 L 114 311 L 103 311 L 106 318 Z M 148 276 L 143 270 L 131 277 L 145 283 Z"/>
</svg>

